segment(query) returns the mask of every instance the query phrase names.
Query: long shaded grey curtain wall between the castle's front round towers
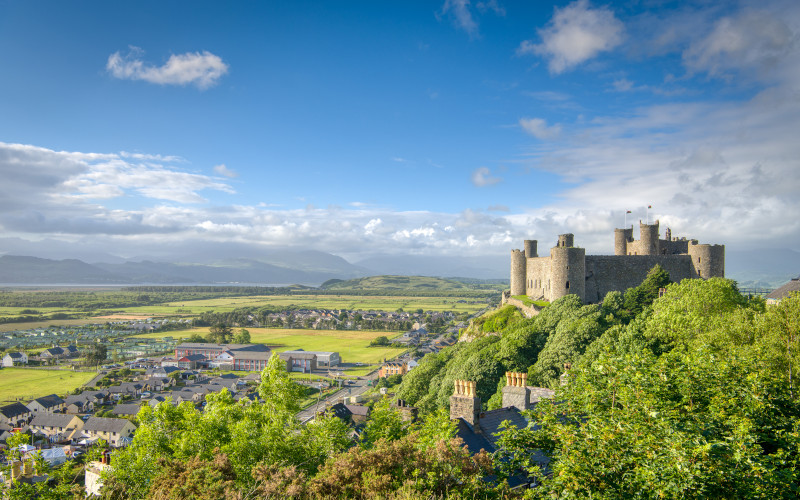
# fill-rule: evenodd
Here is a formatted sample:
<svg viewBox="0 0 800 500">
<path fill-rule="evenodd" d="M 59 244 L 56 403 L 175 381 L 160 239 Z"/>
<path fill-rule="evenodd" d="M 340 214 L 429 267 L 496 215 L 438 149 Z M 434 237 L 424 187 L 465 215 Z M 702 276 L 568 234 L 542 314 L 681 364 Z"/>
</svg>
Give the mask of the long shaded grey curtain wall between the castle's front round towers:
<svg viewBox="0 0 800 500">
<path fill-rule="evenodd" d="M 656 264 L 661 264 L 672 281 L 694 276 L 688 255 L 589 255 L 586 257 L 584 302 L 596 304 L 602 302 L 608 292 L 624 292 L 639 286 Z"/>
</svg>

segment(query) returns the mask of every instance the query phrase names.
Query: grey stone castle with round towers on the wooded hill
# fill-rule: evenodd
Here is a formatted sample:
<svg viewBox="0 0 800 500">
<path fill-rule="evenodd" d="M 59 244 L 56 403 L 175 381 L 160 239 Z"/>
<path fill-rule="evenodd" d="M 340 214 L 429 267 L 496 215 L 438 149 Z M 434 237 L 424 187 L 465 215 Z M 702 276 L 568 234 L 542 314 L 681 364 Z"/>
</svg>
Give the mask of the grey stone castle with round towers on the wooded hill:
<svg viewBox="0 0 800 500">
<path fill-rule="evenodd" d="M 639 240 L 633 239 L 633 226 L 615 229 L 614 255 L 586 255 L 585 249 L 574 245 L 574 235 L 562 234 L 550 256 L 539 257 L 537 241 L 525 240 L 524 251 L 511 250 L 511 290 L 503 300 L 527 295 L 552 302 L 575 294 L 585 304 L 598 303 L 608 292 L 638 286 L 656 264 L 672 281 L 725 277 L 724 245 L 673 238 L 669 228 L 662 240 L 658 224 L 639 221 Z"/>
</svg>

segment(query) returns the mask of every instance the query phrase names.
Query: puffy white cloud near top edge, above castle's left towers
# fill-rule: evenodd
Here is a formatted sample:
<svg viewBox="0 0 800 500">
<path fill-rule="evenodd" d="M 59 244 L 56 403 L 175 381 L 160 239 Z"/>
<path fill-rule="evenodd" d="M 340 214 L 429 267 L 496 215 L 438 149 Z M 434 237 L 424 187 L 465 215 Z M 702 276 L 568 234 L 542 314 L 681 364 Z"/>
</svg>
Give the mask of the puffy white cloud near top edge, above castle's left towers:
<svg viewBox="0 0 800 500">
<path fill-rule="evenodd" d="M 578 0 L 556 8 L 550 23 L 538 30 L 541 43 L 525 40 L 517 54 L 545 57 L 551 73 L 563 73 L 619 46 L 623 31 L 622 22 L 610 9 L 593 9 L 587 0 Z"/>
</svg>

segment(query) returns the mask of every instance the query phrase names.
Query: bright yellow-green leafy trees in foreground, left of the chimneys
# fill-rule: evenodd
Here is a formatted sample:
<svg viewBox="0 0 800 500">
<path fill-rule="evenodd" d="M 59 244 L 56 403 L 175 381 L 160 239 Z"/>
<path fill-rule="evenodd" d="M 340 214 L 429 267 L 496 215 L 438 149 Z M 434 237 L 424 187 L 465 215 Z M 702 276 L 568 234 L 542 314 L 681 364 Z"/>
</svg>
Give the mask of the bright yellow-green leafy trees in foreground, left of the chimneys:
<svg viewBox="0 0 800 500">
<path fill-rule="evenodd" d="M 144 406 L 133 443 L 114 455 L 105 498 L 145 498 L 162 466 L 158 458 L 211 461 L 223 453 L 237 487 L 248 488 L 258 463 L 295 465 L 313 473 L 347 444 L 346 426 L 332 417 L 301 426 L 295 419 L 302 388 L 273 355 L 261 373 L 263 402 L 235 402 L 227 390 L 206 396 L 200 412 L 189 402 Z M 179 467 L 175 465 L 175 467 Z"/>
</svg>

